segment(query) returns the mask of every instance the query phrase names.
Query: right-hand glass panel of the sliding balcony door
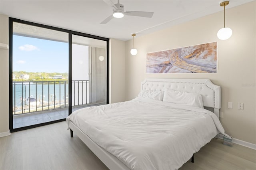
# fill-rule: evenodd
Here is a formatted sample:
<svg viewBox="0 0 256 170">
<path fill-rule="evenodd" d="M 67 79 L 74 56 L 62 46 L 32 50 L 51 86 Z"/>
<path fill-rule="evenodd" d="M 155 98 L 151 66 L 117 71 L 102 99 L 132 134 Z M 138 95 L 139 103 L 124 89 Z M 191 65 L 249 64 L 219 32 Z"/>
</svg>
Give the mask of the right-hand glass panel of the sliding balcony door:
<svg viewBox="0 0 256 170">
<path fill-rule="evenodd" d="M 106 104 L 106 41 L 72 35 L 72 111 Z"/>
</svg>

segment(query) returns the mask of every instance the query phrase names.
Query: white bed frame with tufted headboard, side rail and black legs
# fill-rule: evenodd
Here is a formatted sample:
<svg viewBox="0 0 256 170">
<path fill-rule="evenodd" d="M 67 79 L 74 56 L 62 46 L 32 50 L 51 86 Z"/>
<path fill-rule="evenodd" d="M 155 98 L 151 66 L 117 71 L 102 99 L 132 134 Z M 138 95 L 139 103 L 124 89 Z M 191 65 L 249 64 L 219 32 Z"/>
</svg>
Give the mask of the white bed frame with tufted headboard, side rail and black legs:
<svg viewBox="0 0 256 170">
<path fill-rule="evenodd" d="M 219 118 L 220 109 L 220 86 L 214 85 L 209 79 L 145 79 L 141 83 L 141 90 L 164 90 L 173 89 L 178 91 L 186 91 L 198 93 L 202 95 L 204 107 L 206 109 L 213 108 L 214 113 Z M 89 136 L 80 130 L 74 123 L 70 121 L 70 135 L 75 134 L 94 152 L 94 154 L 110 169 L 110 170 L 129 170 L 129 168 L 118 158 L 110 154 L 104 148 L 98 146 Z M 194 162 L 194 154 L 191 158 Z"/>
</svg>

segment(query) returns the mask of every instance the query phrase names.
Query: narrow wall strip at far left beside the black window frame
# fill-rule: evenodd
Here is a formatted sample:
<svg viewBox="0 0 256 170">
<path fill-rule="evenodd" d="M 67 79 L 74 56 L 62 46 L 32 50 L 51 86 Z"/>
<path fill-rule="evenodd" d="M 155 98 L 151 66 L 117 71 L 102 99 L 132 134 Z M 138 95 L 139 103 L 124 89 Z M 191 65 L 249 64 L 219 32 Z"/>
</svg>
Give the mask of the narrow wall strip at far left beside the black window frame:
<svg viewBox="0 0 256 170">
<path fill-rule="evenodd" d="M 8 16 L 0 14 L 0 43 L 9 44 Z M 9 133 L 9 50 L 0 49 L 0 136 Z"/>
</svg>

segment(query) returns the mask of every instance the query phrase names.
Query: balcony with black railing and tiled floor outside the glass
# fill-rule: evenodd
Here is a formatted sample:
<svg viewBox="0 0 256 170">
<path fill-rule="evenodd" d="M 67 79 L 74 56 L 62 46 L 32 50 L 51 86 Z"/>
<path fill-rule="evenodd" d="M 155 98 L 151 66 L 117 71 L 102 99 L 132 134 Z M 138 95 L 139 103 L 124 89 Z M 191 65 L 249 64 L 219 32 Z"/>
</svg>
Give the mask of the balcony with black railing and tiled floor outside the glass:
<svg viewBox="0 0 256 170">
<path fill-rule="evenodd" d="M 14 81 L 13 128 L 35 125 L 68 116 L 68 81 Z M 89 81 L 72 81 L 72 111 L 98 105 L 89 100 Z"/>
</svg>

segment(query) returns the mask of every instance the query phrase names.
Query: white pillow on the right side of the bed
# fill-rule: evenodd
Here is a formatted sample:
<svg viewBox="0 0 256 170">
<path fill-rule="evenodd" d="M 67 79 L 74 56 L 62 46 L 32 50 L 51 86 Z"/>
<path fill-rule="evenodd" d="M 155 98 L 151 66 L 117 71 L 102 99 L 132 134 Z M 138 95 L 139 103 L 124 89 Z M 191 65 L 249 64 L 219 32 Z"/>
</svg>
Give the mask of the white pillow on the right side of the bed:
<svg viewBox="0 0 256 170">
<path fill-rule="evenodd" d="M 202 96 L 198 93 L 166 89 L 163 101 L 204 108 Z"/>
</svg>

